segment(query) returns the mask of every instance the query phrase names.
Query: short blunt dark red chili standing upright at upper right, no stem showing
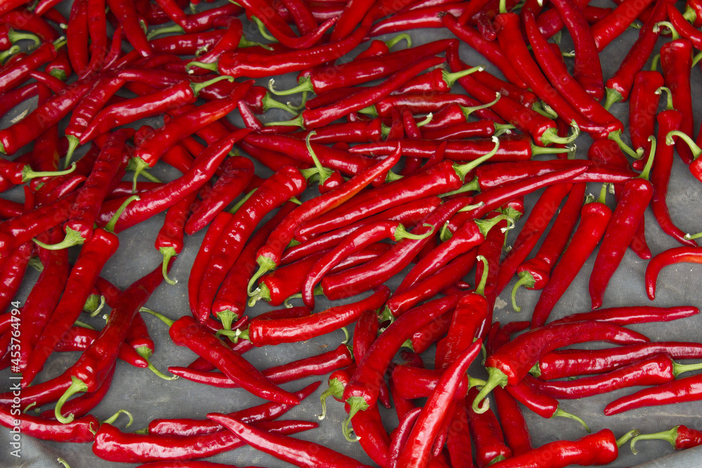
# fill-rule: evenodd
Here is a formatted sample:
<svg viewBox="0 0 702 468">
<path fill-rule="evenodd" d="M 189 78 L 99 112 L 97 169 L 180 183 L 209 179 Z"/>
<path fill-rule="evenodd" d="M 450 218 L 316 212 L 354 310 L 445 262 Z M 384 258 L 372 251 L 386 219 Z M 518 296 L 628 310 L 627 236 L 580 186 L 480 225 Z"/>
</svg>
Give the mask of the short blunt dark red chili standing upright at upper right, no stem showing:
<svg viewBox="0 0 702 468">
<path fill-rule="evenodd" d="M 660 72 L 642 70 L 634 76 L 629 100 L 629 137 L 637 154 L 647 154 L 649 151 L 649 136 L 654 135 L 654 116 L 658 112 L 658 101 L 661 99 L 660 93 L 656 91 L 663 84 L 663 75 Z M 660 136 L 658 139 L 660 140 Z"/>
</svg>

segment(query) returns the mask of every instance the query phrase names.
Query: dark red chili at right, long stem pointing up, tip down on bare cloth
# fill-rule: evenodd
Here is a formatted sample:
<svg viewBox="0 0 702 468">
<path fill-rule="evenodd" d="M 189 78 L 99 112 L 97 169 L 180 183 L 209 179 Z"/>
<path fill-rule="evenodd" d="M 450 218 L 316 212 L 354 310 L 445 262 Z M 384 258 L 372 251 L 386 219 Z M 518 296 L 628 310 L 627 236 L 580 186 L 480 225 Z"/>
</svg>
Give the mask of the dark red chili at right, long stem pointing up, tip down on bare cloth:
<svg viewBox="0 0 702 468">
<path fill-rule="evenodd" d="M 656 150 L 656 142 L 651 137 L 651 152 Z M 627 246 L 631 243 L 640 225 L 644 210 L 653 196 L 653 185 L 648 180 L 654 156 L 649 156 L 644 171 L 638 178 L 625 182 L 621 199 L 617 204 L 611 222 L 602 237 L 602 246 L 597 252 L 595 266 L 590 275 L 590 300 L 592 309 L 602 306 L 604 290 L 611 275 L 619 266 Z"/>
</svg>

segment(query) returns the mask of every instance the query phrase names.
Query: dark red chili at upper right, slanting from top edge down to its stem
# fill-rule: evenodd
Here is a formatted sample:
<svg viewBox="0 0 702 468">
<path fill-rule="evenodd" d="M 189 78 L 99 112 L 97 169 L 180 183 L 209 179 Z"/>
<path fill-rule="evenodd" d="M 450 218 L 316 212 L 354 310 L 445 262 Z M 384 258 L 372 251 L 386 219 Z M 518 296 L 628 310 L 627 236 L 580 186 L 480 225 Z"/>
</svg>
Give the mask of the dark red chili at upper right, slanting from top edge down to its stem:
<svg viewBox="0 0 702 468">
<path fill-rule="evenodd" d="M 609 109 L 614 102 L 626 100 L 629 97 L 629 93 L 634 84 L 634 76 L 637 72 L 640 72 L 649 60 L 649 56 L 654 50 L 656 41 L 658 41 L 659 33 L 656 23 L 665 20 L 667 15 L 665 8 L 668 3 L 670 3 L 668 0 L 656 2 L 654 13 L 644 24 L 644 27 L 641 28 L 639 38 L 634 45 L 631 46 L 629 53 L 624 60 L 622 60 L 614 76 L 605 83 L 604 92 L 607 95 L 604 102 L 605 109 Z M 614 11 L 611 14 L 614 14 Z"/>
</svg>

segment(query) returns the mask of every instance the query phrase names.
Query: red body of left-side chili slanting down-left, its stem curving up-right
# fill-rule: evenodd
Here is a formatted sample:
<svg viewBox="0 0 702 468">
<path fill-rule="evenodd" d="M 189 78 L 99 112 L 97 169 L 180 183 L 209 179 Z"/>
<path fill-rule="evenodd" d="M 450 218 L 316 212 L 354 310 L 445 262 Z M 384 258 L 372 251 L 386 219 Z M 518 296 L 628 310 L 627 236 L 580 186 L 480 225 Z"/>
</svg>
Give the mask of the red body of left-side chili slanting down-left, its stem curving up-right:
<svg viewBox="0 0 702 468">
<path fill-rule="evenodd" d="M 29 356 L 27 368 L 22 373 L 22 386 L 29 385 L 39 370 L 44 366 L 46 359 L 61 340 L 62 335 L 73 325 L 83 310 L 83 306 L 88 299 L 100 276 L 105 262 L 117 251 L 119 241 L 117 236 L 110 232 L 98 229 L 93 233 L 90 241 L 81 248 L 79 258 L 71 270 L 68 277 L 64 295 L 51 318 L 44 326 L 37 346 Z M 123 340 L 120 340 L 121 343 Z M 96 387 L 95 387 L 96 388 Z"/>
</svg>

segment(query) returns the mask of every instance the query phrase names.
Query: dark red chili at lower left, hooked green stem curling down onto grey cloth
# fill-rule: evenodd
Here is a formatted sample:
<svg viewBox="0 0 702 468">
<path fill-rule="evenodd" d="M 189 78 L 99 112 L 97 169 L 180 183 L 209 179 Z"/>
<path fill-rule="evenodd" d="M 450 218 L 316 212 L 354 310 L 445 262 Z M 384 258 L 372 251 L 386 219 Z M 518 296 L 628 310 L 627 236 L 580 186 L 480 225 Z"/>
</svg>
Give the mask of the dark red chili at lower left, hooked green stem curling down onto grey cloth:
<svg viewBox="0 0 702 468">
<path fill-rule="evenodd" d="M 105 382 L 134 315 L 138 314 L 140 307 L 145 304 L 161 281 L 163 281 L 163 274 L 161 267 L 158 267 L 132 283 L 119 296 L 116 307 L 110 312 L 110 319 L 100 330 L 98 337 L 79 360 L 66 371 L 72 383 L 56 403 L 54 412 L 57 420 L 66 424 L 73 420 L 73 415 L 65 417 L 61 414 L 61 407 L 70 396 L 77 392 L 95 392 Z"/>
</svg>

